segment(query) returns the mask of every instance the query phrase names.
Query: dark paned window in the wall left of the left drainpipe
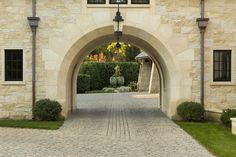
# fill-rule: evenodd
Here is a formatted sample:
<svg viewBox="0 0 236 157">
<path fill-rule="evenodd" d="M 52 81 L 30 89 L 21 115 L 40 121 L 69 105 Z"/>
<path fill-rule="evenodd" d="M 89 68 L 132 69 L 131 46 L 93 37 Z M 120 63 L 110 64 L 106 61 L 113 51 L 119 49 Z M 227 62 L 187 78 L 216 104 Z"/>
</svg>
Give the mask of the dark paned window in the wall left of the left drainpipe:
<svg viewBox="0 0 236 157">
<path fill-rule="evenodd" d="M 23 81 L 23 50 L 5 50 L 5 81 Z"/>
</svg>

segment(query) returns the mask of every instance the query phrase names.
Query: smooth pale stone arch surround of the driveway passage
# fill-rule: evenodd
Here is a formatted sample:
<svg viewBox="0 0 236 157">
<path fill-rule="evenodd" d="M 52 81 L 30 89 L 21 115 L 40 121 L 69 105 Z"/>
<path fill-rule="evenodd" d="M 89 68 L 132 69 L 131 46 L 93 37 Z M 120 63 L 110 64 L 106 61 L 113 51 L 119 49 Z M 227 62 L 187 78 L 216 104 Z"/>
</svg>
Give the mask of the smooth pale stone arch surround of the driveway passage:
<svg viewBox="0 0 236 157">
<path fill-rule="evenodd" d="M 179 101 L 181 74 L 171 51 L 152 34 L 133 26 L 124 26 L 121 40 L 143 49 L 153 59 L 161 77 L 162 110 L 169 117 L 173 116 Z M 80 64 L 98 45 L 111 41 L 114 41 L 113 26 L 105 26 L 85 34 L 66 53 L 60 66 L 57 84 L 58 100 L 63 105 L 64 115 L 68 115 L 76 107 L 75 83 Z"/>
</svg>

